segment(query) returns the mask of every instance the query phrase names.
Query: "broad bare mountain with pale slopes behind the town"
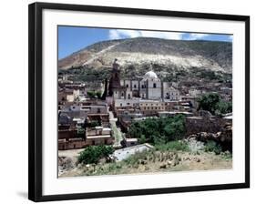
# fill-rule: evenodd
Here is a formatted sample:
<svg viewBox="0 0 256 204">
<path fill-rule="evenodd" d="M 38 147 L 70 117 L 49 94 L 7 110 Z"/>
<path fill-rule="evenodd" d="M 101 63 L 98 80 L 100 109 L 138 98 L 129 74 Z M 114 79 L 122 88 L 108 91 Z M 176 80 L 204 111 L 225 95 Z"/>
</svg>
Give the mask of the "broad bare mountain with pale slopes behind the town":
<svg viewBox="0 0 256 204">
<path fill-rule="evenodd" d="M 153 66 L 158 72 L 170 70 L 232 71 L 230 42 L 168 40 L 137 37 L 98 42 L 58 61 L 58 68 L 84 67 L 94 70 L 112 65 L 118 58 L 126 72 L 145 73 Z M 142 70 L 143 69 L 143 70 Z"/>
</svg>

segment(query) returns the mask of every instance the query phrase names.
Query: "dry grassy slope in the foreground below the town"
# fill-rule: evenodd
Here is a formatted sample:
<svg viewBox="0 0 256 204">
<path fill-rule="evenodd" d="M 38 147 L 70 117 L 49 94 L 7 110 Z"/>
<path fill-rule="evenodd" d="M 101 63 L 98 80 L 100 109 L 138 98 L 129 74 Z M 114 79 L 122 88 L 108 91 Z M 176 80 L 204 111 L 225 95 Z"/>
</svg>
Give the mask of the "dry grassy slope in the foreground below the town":
<svg viewBox="0 0 256 204">
<path fill-rule="evenodd" d="M 232 168 L 229 153 L 216 155 L 204 150 L 191 152 L 184 145 L 170 142 L 155 149 L 144 151 L 130 158 L 113 163 L 99 163 L 96 166 L 81 165 L 67 171 L 61 177 L 97 176 L 135 173 L 156 173 L 187 170 L 209 170 Z"/>
</svg>

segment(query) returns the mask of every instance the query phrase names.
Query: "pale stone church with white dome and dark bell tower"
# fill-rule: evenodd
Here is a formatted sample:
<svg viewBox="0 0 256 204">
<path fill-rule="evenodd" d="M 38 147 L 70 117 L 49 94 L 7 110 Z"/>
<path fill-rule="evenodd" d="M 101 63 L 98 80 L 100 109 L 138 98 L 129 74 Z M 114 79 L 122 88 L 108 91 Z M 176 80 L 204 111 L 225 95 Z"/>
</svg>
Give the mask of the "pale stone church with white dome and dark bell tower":
<svg viewBox="0 0 256 204">
<path fill-rule="evenodd" d="M 108 95 L 113 99 L 179 100 L 179 90 L 172 87 L 170 82 L 162 82 L 153 70 L 148 71 L 141 80 L 121 79 L 118 59 L 113 63 Z"/>
</svg>

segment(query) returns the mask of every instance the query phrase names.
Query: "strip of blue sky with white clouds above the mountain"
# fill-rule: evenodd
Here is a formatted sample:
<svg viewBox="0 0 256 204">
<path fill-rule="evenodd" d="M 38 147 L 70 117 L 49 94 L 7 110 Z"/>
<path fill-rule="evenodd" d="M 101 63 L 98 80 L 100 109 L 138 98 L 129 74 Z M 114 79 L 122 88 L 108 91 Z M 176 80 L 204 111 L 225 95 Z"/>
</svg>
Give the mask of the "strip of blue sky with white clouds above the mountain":
<svg viewBox="0 0 256 204">
<path fill-rule="evenodd" d="M 232 41 L 230 35 L 58 26 L 58 59 L 99 41 L 139 36 L 176 40 Z"/>
</svg>

